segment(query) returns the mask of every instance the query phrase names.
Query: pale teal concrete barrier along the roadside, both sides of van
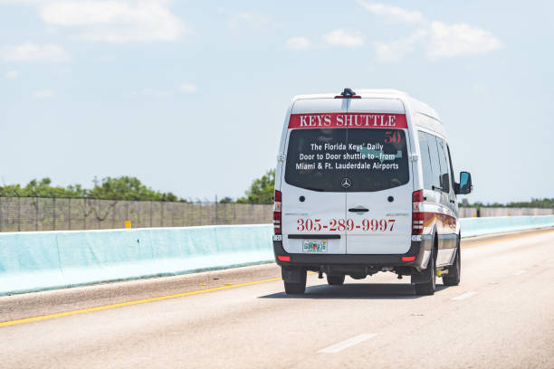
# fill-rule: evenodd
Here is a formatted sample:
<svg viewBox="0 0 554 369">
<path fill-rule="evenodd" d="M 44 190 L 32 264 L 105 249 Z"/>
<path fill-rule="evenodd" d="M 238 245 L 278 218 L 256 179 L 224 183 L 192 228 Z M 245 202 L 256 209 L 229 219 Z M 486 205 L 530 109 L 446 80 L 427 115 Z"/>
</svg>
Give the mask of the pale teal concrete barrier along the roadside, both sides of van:
<svg viewBox="0 0 554 369">
<path fill-rule="evenodd" d="M 460 220 L 462 237 L 554 226 L 554 215 Z M 272 224 L 0 233 L 0 295 L 273 260 Z"/>
</svg>

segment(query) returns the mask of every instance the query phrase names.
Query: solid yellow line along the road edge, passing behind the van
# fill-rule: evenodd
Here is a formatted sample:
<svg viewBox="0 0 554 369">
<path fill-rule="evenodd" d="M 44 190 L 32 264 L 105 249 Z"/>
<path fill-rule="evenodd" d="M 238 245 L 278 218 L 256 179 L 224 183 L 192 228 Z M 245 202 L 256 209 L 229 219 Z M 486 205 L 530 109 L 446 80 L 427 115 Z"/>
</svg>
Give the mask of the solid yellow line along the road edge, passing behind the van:
<svg viewBox="0 0 554 369">
<path fill-rule="evenodd" d="M 521 236 L 514 236 L 514 237 L 510 237 L 510 238 L 504 238 L 504 239 L 501 239 L 501 240 L 498 240 L 498 241 L 484 241 L 484 242 L 479 242 L 479 243 L 475 243 L 475 244 L 472 244 L 472 245 L 466 245 L 466 246 L 462 246 L 462 247 L 467 248 L 467 247 L 473 247 L 473 246 L 481 246 L 481 245 L 485 245 L 485 244 L 489 244 L 489 243 L 496 243 L 496 242 L 501 242 L 501 241 L 510 241 L 510 240 L 535 236 L 535 235 L 538 235 L 538 234 L 549 233 L 549 232 L 554 232 L 554 230 L 545 231 L 545 232 L 538 232 L 538 233 L 530 233 L 530 234 L 525 234 L 525 235 L 521 235 Z M 308 274 L 315 274 L 315 273 L 316 273 L 315 271 L 308 272 Z M 143 299 L 139 299 L 139 300 L 135 300 L 135 301 L 121 302 L 119 304 L 104 305 L 104 306 L 101 306 L 101 307 L 81 308 L 79 310 L 65 311 L 63 313 L 49 314 L 49 315 L 40 316 L 40 317 L 26 317 L 24 319 L 17 319 L 17 320 L 10 320 L 10 321 L 6 321 L 6 322 L 0 322 L 0 327 L 2 327 L 2 326 L 15 326 L 15 325 L 18 325 L 18 324 L 38 322 L 38 321 L 41 321 L 41 320 L 53 319 L 54 317 L 70 317 L 70 316 L 73 316 L 73 315 L 91 313 L 93 311 L 108 310 L 110 308 L 116 308 L 116 307 L 130 307 L 130 306 L 133 306 L 133 305 L 145 304 L 147 302 L 162 301 L 162 300 L 166 300 L 166 299 L 169 299 L 169 298 L 183 298 L 185 296 L 192 296 L 192 295 L 199 295 L 201 293 L 215 292 L 215 291 L 220 291 L 222 289 L 234 289 L 234 288 L 237 288 L 237 287 L 252 286 L 252 285 L 256 285 L 256 284 L 260 284 L 260 283 L 274 282 L 276 280 L 281 280 L 281 277 L 270 278 L 270 279 L 262 279 L 262 280 L 254 280 L 253 282 L 238 283 L 238 284 L 234 284 L 234 285 L 233 284 L 232 285 L 225 285 L 225 286 L 222 286 L 222 287 L 215 287 L 213 289 L 198 289 L 196 291 L 177 293 L 177 294 L 174 294 L 174 295 L 167 295 L 167 296 L 160 296 L 158 298 L 143 298 Z"/>
</svg>

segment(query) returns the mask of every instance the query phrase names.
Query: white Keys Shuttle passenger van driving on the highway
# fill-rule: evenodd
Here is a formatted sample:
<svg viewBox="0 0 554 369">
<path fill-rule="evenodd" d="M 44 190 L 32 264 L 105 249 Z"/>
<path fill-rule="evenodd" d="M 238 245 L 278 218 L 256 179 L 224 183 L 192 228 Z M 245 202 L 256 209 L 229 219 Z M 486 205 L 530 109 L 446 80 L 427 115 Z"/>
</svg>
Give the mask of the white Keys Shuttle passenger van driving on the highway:
<svg viewBox="0 0 554 369">
<path fill-rule="evenodd" d="M 307 270 L 331 285 L 378 271 L 411 276 L 419 295 L 460 282 L 457 194 L 435 110 L 397 90 L 292 99 L 275 172 L 273 249 L 288 294 Z"/>
</svg>

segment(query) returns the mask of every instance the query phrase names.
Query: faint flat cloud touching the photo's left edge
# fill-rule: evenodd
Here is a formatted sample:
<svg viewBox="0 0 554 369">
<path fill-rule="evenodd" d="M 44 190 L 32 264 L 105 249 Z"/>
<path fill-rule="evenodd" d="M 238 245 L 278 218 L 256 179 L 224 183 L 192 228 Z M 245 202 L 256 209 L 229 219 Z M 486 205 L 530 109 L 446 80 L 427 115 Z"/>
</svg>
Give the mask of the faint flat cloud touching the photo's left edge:
<svg viewBox="0 0 554 369">
<path fill-rule="evenodd" d="M 58 45 L 22 43 L 0 50 L 0 59 L 4 61 L 67 61 L 69 54 Z"/>
</svg>

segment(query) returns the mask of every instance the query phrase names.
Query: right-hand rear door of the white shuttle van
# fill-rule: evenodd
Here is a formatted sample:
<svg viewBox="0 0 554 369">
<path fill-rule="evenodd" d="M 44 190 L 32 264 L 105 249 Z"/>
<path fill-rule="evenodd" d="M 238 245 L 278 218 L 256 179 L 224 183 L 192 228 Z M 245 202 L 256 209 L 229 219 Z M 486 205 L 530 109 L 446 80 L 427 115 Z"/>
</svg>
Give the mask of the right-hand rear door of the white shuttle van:
<svg viewBox="0 0 554 369">
<path fill-rule="evenodd" d="M 356 124 L 347 129 L 353 157 L 347 169 L 347 253 L 406 253 L 413 184 L 404 105 L 397 99 L 350 99 L 348 113 Z"/>
</svg>

